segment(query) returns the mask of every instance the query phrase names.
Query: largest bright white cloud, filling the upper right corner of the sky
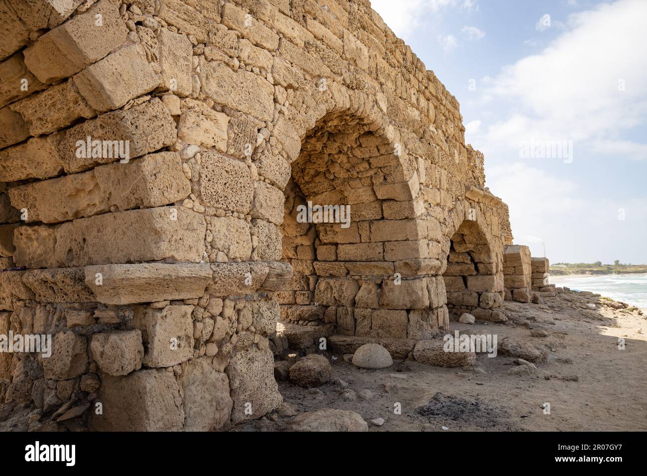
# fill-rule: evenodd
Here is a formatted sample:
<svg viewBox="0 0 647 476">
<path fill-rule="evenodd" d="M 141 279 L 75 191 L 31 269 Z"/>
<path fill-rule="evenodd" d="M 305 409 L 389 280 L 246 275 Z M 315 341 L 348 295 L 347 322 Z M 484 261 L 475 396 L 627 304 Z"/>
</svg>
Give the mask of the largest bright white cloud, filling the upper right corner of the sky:
<svg viewBox="0 0 647 476">
<path fill-rule="evenodd" d="M 647 2 L 619 0 L 569 17 L 569 29 L 539 54 L 484 78 L 483 97 L 509 102 L 510 113 L 481 128 L 487 148 L 568 141 L 576 152 L 644 158 L 646 145 L 622 133 L 647 120 Z M 622 87 L 620 87 L 622 85 Z M 576 157 L 577 157 L 576 153 Z M 582 153 L 579 153 L 582 157 Z"/>
</svg>

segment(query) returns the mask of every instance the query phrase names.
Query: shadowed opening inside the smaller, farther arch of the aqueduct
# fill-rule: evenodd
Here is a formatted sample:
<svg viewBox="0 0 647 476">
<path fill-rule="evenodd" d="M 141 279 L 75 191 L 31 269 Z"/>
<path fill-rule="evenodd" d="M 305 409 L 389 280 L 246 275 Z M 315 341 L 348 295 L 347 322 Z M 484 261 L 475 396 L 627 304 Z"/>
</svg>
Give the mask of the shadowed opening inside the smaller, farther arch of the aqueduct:
<svg viewBox="0 0 647 476">
<path fill-rule="evenodd" d="M 503 303 L 501 257 L 494 253 L 476 220 L 465 220 L 450 239 L 443 273 L 450 315 L 471 313 L 477 319 L 498 321 Z"/>
</svg>

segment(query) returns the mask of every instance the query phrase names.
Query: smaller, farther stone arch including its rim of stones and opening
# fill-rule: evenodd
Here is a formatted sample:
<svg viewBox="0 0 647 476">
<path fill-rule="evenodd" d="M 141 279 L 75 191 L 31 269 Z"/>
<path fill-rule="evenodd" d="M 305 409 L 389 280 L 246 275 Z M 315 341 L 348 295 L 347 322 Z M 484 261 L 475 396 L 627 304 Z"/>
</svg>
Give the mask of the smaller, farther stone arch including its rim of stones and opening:
<svg viewBox="0 0 647 476">
<path fill-rule="evenodd" d="M 448 312 L 460 317 L 464 312 L 477 319 L 505 321 L 499 311 L 503 303 L 503 257 L 501 237 L 493 231 L 496 223 L 483 203 L 461 202 L 446 234 L 446 268 L 443 280 Z"/>
</svg>

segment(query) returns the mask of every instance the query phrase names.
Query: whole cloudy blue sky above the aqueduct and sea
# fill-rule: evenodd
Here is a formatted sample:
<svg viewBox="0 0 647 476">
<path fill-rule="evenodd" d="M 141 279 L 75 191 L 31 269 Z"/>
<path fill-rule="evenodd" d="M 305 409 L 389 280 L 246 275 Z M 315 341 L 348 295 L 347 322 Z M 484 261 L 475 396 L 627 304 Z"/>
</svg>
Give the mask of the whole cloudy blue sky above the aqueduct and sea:
<svg viewBox="0 0 647 476">
<path fill-rule="evenodd" d="M 371 0 L 461 104 L 514 243 L 647 263 L 647 0 Z"/>
</svg>

